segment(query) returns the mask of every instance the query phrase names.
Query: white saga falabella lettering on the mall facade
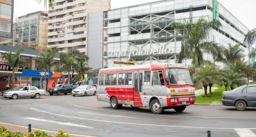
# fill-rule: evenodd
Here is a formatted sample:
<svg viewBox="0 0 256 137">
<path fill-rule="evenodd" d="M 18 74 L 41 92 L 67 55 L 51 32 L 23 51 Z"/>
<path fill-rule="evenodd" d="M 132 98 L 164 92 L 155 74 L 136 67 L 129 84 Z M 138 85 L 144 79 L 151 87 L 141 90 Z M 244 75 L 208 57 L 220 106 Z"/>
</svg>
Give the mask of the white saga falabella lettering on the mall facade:
<svg viewBox="0 0 256 137">
<path fill-rule="evenodd" d="M 152 49 L 141 49 L 138 50 L 129 50 L 129 51 L 118 51 L 118 52 L 108 52 L 109 58 L 117 58 L 120 59 L 120 57 L 128 57 L 128 59 L 131 58 L 131 56 L 150 56 L 152 54 L 173 54 L 172 50 L 170 48 L 165 47 L 165 45 L 161 45 L 159 48 Z"/>
</svg>

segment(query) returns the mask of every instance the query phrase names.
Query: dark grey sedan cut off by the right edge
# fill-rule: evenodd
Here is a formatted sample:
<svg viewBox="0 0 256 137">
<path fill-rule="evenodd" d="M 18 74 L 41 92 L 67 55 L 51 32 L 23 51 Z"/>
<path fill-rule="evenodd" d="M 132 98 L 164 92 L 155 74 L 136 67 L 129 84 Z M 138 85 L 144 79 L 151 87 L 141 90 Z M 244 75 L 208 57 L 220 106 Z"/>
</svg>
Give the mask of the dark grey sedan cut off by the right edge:
<svg viewBox="0 0 256 137">
<path fill-rule="evenodd" d="M 222 103 L 226 106 L 235 106 L 239 111 L 245 110 L 246 107 L 256 107 L 256 85 L 242 85 L 223 92 Z"/>
</svg>

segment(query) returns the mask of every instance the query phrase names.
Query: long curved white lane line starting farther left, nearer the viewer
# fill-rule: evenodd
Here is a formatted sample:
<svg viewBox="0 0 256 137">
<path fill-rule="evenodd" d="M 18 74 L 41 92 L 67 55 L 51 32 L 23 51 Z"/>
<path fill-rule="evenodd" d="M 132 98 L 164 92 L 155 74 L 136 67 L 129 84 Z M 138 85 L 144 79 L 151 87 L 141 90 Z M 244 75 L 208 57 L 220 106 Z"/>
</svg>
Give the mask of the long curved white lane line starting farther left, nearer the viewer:
<svg viewBox="0 0 256 137">
<path fill-rule="evenodd" d="M 55 114 L 52 112 L 46 112 L 43 110 L 39 110 L 39 109 L 35 109 L 33 107 L 30 107 L 30 109 L 33 109 L 37 112 L 42 112 L 42 113 L 46 113 L 46 114 L 52 114 L 55 116 L 62 116 L 62 117 L 66 117 L 66 118 L 77 118 L 77 119 L 82 119 L 82 120 L 91 120 L 91 121 L 97 121 L 97 122 L 104 122 L 104 123 L 116 123 L 116 124 L 124 124 L 124 125 L 145 125 L 145 126 L 154 126 L 154 127 L 180 127 L 180 128 L 192 128 L 192 129 L 234 129 L 231 127 L 190 127 L 190 126 L 176 126 L 176 125 L 155 125 L 155 124 L 143 124 L 143 123 L 125 123 L 125 122 L 118 122 L 118 121 L 109 121 L 109 120 L 98 120 L 98 119 L 91 119 L 91 118 L 81 118 L 81 117 L 77 117 L 77 116 L 66 116 L 63 114 Z M 256 129 L 256 127 L 253 128 L 247 128 L 247 129 Z"/>
</svg>

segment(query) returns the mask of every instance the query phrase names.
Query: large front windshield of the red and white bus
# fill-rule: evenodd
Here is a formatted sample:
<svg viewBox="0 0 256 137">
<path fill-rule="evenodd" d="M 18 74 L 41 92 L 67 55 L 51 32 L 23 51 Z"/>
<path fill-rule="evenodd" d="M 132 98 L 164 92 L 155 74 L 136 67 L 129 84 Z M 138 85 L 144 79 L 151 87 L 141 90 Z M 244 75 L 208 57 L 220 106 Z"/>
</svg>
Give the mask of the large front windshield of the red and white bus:
<svg viewBox="0 0 256 137">
<path fill-rule="evenodd" d="M 190 72 L 184 68 L 165 69 L 166 81 L 169 85 L 193 85 Z"/>
</svg>

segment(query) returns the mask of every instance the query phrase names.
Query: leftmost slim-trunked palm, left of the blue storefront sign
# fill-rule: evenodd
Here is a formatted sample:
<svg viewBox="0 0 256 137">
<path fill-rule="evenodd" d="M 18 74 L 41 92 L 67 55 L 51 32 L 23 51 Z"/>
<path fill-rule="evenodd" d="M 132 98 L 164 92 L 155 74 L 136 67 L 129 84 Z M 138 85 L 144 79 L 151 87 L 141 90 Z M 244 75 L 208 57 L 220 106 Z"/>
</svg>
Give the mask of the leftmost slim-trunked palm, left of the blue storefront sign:
<svg viewBox="0 0 256 137">
<path fill-rule="evenodd" d="M 12 68 L 12 85 L 10 87 L 13 87 L 15 84 L 15 67 L 21 67 L 24 65 L 24 61 L 21 59 L 21 52 L 23 49 L 17 50 L 16 53 L 12 54 L 12 52 L 7 52 L 5 54 L 5 58 L 7 59 L 8 64 Z"/>
</svg>

